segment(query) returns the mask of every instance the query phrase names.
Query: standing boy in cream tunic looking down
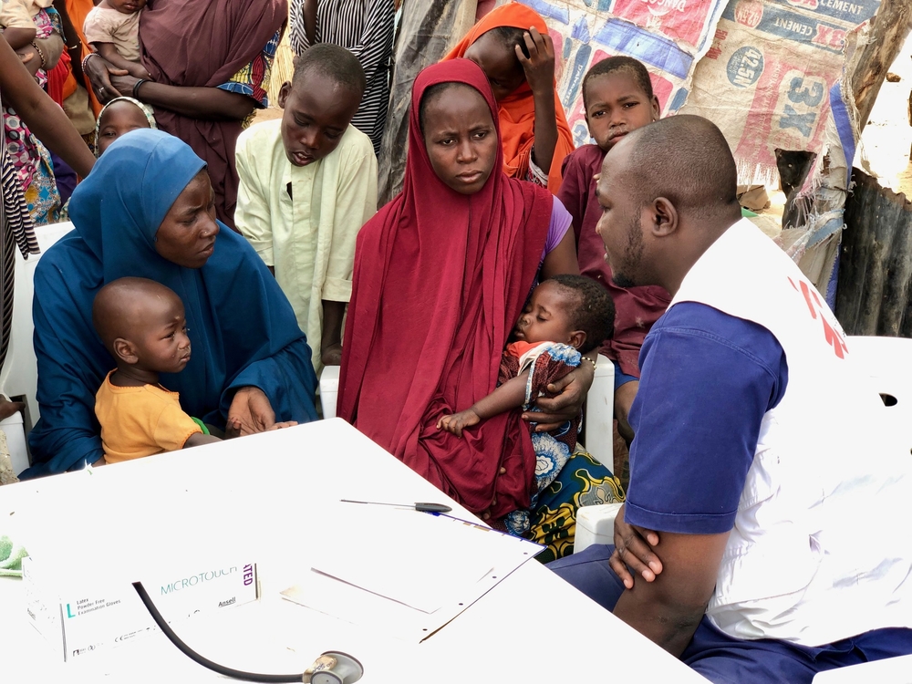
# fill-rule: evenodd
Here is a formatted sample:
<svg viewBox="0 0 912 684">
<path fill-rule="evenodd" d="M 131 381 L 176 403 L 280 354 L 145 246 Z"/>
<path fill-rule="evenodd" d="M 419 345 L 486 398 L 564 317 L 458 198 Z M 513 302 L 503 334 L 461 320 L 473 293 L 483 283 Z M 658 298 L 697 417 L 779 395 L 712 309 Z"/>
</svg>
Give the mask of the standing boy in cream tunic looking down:
<svg viewBox="0 0 912 684">
<path fill-rule="evenodd" d="M 377 211 L 374 149 L 349 125 L 365 82 L 346 49 L 312 47 L 279 93 L 282 119 L 237 141 L 235 223 L 294 307 L 317 372 L 341 361 L 355 239 Z"/>
</svg>

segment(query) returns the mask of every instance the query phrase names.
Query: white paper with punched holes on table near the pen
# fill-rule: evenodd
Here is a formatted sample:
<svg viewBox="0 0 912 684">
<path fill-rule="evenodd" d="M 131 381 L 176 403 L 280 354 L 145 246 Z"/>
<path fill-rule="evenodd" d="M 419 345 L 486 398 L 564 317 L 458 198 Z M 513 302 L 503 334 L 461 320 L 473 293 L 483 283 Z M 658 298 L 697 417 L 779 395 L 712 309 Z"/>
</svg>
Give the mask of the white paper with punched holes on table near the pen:
<svg viewBox="0 0 912 684">
<path fill-rule="evenodd" d="M 350 512 L 339 513 L 344 526 Z M 282 595 L 409 641 L 429 637 L 542 550 L 481 525 L 408 509 L 372 510 L 358 521 L 358 534 L 350 527 L 336 532 L 350 544 L 320 554 Z"/>
</svg>

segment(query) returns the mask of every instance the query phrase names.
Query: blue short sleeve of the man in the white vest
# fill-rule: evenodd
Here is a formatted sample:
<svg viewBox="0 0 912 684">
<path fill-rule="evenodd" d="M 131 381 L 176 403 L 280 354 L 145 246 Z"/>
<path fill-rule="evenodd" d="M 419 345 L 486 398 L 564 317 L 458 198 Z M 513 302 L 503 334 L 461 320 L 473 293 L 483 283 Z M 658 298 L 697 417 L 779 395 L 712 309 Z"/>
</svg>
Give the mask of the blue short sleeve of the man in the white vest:
<svg viewBox="0 0 912 684">
<path fill-rule="evenodd" d="M 731 530 L 785 353 L 766 328 L 684 302 L 643 344 L 625 520 L 658 532 Z"/>
</svg>

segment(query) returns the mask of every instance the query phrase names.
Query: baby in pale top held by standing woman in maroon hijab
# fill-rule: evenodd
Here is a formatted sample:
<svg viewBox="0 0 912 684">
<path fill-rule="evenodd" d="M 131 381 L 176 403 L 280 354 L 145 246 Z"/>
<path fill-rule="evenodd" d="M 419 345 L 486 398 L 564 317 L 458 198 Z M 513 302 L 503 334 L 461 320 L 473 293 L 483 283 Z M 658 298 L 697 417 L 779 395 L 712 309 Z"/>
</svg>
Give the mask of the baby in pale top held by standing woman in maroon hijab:
<svg viewBox="0 0 912 684">
<path fill-rule="evenodd" d="M 83 30 L 101 57 L 134 78 L 150 78 L 140 64 L 140 14 L 146 0 L 101 0 Z"/>
</svg>

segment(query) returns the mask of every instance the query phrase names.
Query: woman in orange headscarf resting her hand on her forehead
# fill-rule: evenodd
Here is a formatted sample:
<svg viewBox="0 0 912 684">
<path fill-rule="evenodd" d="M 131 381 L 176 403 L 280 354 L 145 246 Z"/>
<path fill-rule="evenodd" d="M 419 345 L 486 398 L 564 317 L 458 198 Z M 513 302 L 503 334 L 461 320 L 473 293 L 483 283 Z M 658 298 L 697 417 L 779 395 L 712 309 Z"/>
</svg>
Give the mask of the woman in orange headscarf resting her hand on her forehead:
<svg viewBox="0 0 912 684">
<path fill-rule="evenodd" d="M 444 59 L 466 57 L 482 67 L 497 100 L 503 172 L 551 192 L 574 150 L 564 107 L 554 88 L 554 44 L 533 9 L 501 5 L 472 26 Z"/>
</svg>

